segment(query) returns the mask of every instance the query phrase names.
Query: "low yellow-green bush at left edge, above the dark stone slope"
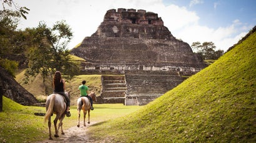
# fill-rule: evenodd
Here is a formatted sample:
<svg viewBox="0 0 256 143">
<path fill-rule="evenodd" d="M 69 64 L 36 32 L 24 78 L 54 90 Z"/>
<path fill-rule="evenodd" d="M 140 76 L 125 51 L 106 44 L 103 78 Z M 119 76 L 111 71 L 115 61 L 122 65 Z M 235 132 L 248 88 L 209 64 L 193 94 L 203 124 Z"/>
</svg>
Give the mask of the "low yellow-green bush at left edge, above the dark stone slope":
<svg viewBox="0 0 256 143">
<path fill-rule="evenodd" d="M 15 71 L 18 69 L 18 62 L 8 59 L 0 58 L 0 66 L 6 69 L 13 77 L 15 77 Z"/>
</svg>

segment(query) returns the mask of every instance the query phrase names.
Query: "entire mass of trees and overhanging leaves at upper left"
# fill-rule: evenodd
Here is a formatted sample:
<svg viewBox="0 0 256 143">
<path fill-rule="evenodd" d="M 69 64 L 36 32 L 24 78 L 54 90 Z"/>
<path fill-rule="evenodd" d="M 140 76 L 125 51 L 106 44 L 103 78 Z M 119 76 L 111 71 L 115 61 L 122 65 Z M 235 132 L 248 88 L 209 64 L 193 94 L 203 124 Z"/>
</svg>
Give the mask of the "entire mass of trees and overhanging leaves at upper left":
<svg viewBox="0 0 256 143">
<path fill-rule="evenodd" d="M 13 0 L 1 0 L 0 10 L 0 65 L 13 76 L 18 65 L 24 64 L 26 76 L 41 73 L 43 78 L 59 70 L 72 78 L 79 65 L 72 62 L 67 48 L 73 34 L 65 21 L 48 27 L 39 22 L 38 27 L 18 30 L 19 19 L 26 19 L 29 9 L 19 7 Z"/>
</svg>

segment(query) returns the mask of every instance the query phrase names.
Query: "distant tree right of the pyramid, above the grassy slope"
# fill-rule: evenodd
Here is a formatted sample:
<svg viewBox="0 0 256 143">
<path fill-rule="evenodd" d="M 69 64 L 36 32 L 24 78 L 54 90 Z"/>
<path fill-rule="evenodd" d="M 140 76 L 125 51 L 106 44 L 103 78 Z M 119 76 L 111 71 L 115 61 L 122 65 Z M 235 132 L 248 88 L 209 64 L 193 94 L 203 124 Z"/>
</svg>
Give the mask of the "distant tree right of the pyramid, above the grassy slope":
<svg viewBox="0 0 256 143">
<path fill-rule="evenodd" d="M 220 56 L 223 55 L 223 50 L 215 51 L 215 45 L 213 42 L 193 42 L 192 50 L 195 53 L 200 54 L 200 56 L 205 60 L 217 60 Z"/>
</svg>

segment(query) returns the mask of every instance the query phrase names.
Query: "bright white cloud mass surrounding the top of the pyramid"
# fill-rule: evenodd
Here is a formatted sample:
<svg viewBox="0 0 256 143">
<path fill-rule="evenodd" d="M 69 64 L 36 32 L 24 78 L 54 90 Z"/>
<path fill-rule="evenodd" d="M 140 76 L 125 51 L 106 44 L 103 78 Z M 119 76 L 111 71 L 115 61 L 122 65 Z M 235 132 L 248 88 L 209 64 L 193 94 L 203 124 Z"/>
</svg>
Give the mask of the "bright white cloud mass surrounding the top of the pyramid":
<svg viewBox="0 0 256 143">
<path fill-rule="evenodd" d="M 191 1 L 195 5 L 203 1 Z M 100 3 L 100 4 L 99 4 Z M 79 44 L 84 37 L 91 36 L 103 22 L 106 11 L 109 9 L 144 9 L 155 12 L 163 19 L 164 25 L 172 32 L 174 37 L 182 39 L 188 44 L 192 42 L 213 42 L 217 48 L 227 50 L 237 43 L 244 34 L 243 31 L 252 26 L 242 24 L 238 19 L 225 27 L 213 29 L 208 25 L 198 23 L 200 17 L 186 7 L 173 4 L 165 6 L 161 0 L 54 0 L 54 1 L 20 1 L 20 6 L 26 6 L 31 11 L 28 20 L 21 21 L 21 28 L 36 27 L 39 21 L 45 21 L 49 26 L 62 19 L 71 26 L 73 39 L 69 46 L 72 48 Z M 242 30 L 243 29 L 243 30 Z M 245 35 L 245 34 L 244 34 Z"/>
</svg>

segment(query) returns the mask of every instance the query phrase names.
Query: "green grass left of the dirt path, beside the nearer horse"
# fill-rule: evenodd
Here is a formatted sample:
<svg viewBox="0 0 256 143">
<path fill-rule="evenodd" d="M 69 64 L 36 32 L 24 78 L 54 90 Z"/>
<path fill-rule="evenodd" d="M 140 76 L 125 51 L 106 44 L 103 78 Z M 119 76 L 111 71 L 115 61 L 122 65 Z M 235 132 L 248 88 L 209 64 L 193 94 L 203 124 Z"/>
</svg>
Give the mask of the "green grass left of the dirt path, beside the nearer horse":
<svg viewBox="0 0 256 143">
<path fill-rule="evenodd" d="M 33 142 L 41 138 L 46 139 L 47 124 L 44 124 L 43 116 L 34 115 L 44 112 L 45 108 L 23 106 L 3 96 L 0 142 Z"/>
</svg>

